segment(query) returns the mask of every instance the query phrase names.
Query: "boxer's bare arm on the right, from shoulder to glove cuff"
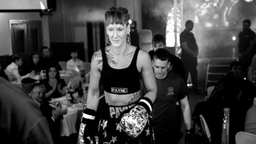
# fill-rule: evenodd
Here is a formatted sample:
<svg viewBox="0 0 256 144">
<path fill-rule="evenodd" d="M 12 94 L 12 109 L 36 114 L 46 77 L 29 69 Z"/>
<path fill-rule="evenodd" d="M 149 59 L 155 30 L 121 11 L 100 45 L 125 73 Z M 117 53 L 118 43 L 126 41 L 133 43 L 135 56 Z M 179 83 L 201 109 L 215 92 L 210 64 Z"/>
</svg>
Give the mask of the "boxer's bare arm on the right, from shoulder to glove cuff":
<svg viewBox="0 0 256 144">
<path fill-rule="evenodd" d="M 157 86 L 151 59 L 149 57 L 149 54 L 146 51 L 142 50 L 139 51 L 138 56 L 139 57 L 137 62 L 140 62 L 141 75 L 146 89 L 144 97 L 149 98 L 154 103 L 156 99 Z"/>
</svg>

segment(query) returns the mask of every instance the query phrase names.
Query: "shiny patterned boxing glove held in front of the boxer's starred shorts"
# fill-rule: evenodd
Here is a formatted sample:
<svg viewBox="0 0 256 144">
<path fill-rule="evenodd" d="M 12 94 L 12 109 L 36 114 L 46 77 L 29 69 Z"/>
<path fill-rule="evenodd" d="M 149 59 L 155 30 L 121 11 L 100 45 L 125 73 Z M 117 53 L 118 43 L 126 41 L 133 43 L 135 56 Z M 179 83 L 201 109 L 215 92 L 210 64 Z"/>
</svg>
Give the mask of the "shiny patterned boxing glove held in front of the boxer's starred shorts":
<svg viewBox="0 0 256 144">
<path fill-rule="evenodd" d="M 138 105 L 133 107 L 129 113 L 122 116 L 119 123 L 121 129 L 132 138 L 138 137 L 148 122 L 153 103 L 149 98 L 143 97 Z"/>
</svg>

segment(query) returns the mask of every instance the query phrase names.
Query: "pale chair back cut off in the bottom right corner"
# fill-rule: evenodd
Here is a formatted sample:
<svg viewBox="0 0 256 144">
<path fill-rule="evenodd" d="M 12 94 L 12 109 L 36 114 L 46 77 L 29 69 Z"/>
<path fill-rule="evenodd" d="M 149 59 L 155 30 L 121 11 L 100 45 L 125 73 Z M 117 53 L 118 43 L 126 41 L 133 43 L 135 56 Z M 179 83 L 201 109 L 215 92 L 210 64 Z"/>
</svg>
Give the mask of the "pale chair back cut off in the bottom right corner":
<svg viewBox="0 0 256 144">
<path fill-rule="evenodd" d="M 256 135 L 247 132 L 236 133 L 236 144 L 255 144 Z"/>
</svg>

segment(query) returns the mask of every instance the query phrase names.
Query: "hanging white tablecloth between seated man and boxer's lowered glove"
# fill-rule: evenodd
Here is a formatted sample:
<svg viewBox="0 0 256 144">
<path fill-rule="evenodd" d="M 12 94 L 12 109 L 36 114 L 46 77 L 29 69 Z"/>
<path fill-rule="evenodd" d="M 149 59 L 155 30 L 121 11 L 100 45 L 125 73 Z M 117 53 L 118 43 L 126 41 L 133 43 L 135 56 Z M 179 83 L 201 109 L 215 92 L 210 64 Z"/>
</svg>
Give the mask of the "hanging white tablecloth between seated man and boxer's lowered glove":
<svg viewBox="0 0 256 144">
<path fill-rule="evenodd" d="M 68 113 L 61 119 L 60 135 L 68 137 L 70 134 L 77 133 L 81 116 L 82 107 L 68 107 Z"/>
</svg>

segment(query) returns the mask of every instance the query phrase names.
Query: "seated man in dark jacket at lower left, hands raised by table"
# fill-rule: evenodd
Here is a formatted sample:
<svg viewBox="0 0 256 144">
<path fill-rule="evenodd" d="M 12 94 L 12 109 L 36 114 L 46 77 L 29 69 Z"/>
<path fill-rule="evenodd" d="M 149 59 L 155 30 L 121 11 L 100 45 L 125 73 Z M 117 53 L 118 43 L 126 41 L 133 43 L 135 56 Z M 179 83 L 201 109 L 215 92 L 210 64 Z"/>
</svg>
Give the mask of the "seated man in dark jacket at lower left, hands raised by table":
<svg viewBox="0 0 256 144">
<path fill-rule="evenodd" d="M 45 97 L 45 86 L 42 83 L 35 83 L 31 87 L 31 99 L 35 101 L 42 114 L 49 123 L 50 132 L 54 143 L 59 143 L 60 139 L 60 121 L 62 115 L 67 114 L 67 109 L 61 110 L 61 105 L 53 108 L 49 105 Z"/>
</svg>

